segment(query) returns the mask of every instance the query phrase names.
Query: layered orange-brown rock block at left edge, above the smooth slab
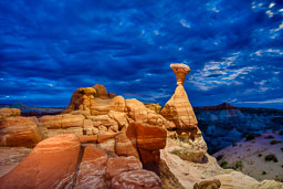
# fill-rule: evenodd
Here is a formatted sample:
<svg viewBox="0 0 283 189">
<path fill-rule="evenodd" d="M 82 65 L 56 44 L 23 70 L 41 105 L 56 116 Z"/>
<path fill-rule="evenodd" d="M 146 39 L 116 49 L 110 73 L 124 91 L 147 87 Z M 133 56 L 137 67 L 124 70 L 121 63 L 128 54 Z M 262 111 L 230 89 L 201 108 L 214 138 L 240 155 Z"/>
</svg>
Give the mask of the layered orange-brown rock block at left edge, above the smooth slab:
<svg viewBox="0 0 283 189">
<path fill-rule="evenodd" d="M 43 139 L 35 117 L 6 117 L 0 120 L 0 146 L 34 147 Z"/>
</svg>

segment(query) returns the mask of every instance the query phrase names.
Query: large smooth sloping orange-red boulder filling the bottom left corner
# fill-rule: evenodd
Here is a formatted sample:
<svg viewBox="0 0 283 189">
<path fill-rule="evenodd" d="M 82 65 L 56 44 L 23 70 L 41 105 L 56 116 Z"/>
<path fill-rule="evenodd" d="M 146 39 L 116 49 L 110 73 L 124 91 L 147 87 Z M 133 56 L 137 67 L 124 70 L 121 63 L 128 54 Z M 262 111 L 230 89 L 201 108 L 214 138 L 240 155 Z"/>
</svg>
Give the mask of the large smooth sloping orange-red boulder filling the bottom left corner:
<svg viewBox="0 0 283 189">
<path fill-rule="evenodd" d="M 0 188 L 67 188 L 72 183 L 78 153 L 80 140 L 75 135 L 48 138 L 0 178 Z"/>
</svg>

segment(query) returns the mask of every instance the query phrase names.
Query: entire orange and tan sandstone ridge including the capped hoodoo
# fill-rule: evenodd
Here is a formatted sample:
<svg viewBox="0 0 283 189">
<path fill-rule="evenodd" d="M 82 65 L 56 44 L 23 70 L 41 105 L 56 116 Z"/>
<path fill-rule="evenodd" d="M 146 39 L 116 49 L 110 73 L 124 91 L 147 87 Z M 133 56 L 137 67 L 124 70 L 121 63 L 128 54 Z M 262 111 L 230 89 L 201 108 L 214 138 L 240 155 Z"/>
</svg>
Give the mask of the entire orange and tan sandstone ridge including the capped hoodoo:
<svg viewBox="0 0 283 189">
<path fill-rule="evenodd" d="M 7 150 L 36 146 L 23 161 L 6 170 L 0 188 L 192 188 L 219 182 L 222 188 L 252 188 L 259 185 L 241 172 L 223 170 L 207 154 L 182 86 L 190 69 L 185 64 L 171 67 L 178 86 L 160 114 L 158 106 L 155 106 L 157 111 L 148 108 L 137 99 L 125 99 L 108 93 L 103 85 L 94 85 L 76 90 L 69 107 L 60 115 L 2 117 L 1 146 Z M 23 133 L 22 126 L 31 132 Z M 17 138 L 18 135 L 23 137 Z"/>
</svg>

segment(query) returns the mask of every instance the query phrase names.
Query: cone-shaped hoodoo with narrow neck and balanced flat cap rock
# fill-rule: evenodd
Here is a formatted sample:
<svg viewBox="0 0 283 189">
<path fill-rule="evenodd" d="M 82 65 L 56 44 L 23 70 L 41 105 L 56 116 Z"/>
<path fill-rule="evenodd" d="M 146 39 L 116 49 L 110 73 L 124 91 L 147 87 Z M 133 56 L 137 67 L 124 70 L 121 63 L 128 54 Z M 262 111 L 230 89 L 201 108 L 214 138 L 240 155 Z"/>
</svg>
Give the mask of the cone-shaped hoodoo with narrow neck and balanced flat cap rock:
<svg viewBox="0 0 283 189">
<path fill-rule="evenodd" d="M 185 76 L 190 69 L 185 64 L 171 64 L 170 66 L 176 73 L 178 86 L 160 114 L 176 126 L 168 129 L 177 130 L 178 138 L 182 141 L 182 146 L 178 149 L 179 153 L 186 155 L 187 160 L 202 161 L 207 153 L 207 145 L 198 128 L 198 120 L 182 86 Z"/>
</svg>

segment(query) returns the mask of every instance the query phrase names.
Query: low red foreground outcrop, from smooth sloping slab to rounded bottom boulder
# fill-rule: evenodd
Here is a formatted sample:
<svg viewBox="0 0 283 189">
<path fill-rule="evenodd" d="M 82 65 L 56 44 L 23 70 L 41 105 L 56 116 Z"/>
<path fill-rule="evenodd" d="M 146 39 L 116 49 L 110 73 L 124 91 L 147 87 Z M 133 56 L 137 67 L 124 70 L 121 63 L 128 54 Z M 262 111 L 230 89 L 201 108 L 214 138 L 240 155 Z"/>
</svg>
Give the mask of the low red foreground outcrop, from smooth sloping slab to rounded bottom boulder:
<svg viewBox="0 0 283 189">
<path fill-rule="evenodd" d="M 99 145 L 81 144 L 75 135 L 60 135 L 39 143 L 21 164 L 0 178 L 0 189 L 160 186 L 158 176 L 142 169 L 138 158 L 117 156 Z"/>
</svg>

